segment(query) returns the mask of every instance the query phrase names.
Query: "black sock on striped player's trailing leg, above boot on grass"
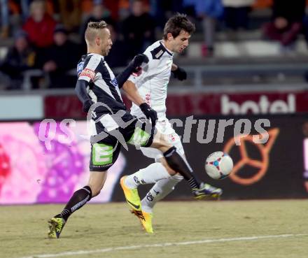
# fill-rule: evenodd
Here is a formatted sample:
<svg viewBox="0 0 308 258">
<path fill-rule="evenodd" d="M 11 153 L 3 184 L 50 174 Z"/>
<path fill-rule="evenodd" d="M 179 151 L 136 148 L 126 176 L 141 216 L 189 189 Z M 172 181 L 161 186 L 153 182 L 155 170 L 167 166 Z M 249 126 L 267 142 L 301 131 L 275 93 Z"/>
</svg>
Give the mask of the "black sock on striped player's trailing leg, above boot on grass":
<svg viewBox="0 0 308 258">
<path fill-rule="evenodd" d="M 79 208 L 83 207 L 87 201 L 90 201 L 92 197 L 92 191 L 89 186 L 85 186 L 73 193 L 69 202 L 56 217 L 62 217 L 65 221 L 69 218 L 71 213 L 75 212 Z"/>
</svg>

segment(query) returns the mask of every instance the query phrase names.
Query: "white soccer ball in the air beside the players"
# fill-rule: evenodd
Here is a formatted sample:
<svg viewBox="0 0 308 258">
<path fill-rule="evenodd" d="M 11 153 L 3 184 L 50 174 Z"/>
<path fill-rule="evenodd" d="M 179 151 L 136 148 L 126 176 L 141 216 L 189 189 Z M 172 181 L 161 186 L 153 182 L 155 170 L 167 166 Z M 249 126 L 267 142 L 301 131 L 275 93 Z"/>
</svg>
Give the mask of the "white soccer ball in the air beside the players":
<svg viewBox="0 0 308 258">
<path fill-rule="evenodd" d="M 228 177 L 233 169 L 233 161 L 228 154 L 223 152 L 213 152 L 205 162 L 205 171 L 214 179 Z"/>
</svg>

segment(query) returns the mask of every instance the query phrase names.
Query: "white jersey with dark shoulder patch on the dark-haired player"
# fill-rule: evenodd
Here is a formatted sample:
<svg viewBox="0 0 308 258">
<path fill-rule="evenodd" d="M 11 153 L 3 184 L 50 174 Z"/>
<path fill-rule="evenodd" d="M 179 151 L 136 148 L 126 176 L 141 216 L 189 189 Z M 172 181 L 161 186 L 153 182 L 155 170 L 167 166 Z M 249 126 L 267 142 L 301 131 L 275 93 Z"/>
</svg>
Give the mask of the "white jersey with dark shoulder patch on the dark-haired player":
<svg viewBox="0 0 308 258">
<path fill-rule="evenodd" d="M 132 74 L 128 80 L 132 81 L 141 97 L 158 113 L 158 120 L 166 119 L 167 86 L 169 83 L 173 53 L 167 50 L 162 41 L 150 45 L 144 54 L 148 57 L 148 64 L 142 64 L 140 76 Z M 132 104 L 132 115 L 144 116 L 139 106 Z"/>
</svg>

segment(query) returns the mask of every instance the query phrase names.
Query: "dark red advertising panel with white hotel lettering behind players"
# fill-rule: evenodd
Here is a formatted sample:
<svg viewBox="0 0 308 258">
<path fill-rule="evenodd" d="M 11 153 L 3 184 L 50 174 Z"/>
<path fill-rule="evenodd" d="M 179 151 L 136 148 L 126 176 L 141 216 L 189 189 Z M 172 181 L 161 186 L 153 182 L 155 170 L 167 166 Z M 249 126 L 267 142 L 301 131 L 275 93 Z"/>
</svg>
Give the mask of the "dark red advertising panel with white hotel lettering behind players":
<svg viewBox="0 0 308 258">
<path fill-rule="evenodd" d="M 128 107 L 130 101 L 123 98 Z M 308 112 L 308 92 L 258 92 L 238 94 L 169 94 L 170 115 L 246 115 Z M 83 118 L 76 96 L 47 96 L 45 117 Z"/>
</svg>

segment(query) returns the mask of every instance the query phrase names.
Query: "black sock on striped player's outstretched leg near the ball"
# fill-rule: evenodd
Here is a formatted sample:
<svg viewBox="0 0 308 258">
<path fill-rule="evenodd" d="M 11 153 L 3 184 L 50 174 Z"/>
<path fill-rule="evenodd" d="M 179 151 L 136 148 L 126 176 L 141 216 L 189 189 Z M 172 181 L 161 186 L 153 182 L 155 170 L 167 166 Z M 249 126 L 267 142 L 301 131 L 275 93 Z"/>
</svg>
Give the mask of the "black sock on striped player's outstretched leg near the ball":
<svg viewBox="0 0 308 258">
<path fill-rule="evenodd" d="M 200 180 L 193 173 L 193 169 L 190 168 L 188 162 L 176 151 L 175 147 L 170 148 L 164 153 L 165 159 L 168 165 L 176 172 L 183 175 L 185 180 L 190 185 L 191 189 L 198 188 L 200 186 Z"/>
</svg>

